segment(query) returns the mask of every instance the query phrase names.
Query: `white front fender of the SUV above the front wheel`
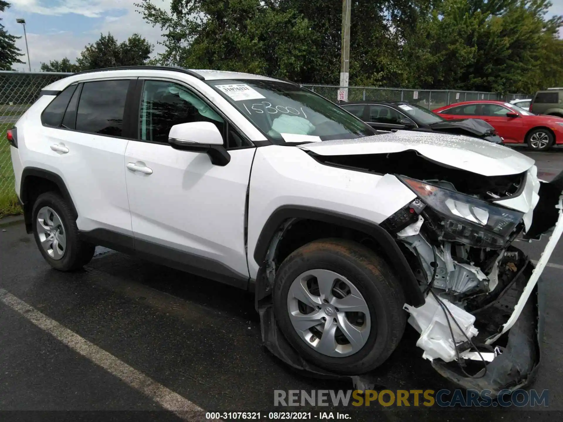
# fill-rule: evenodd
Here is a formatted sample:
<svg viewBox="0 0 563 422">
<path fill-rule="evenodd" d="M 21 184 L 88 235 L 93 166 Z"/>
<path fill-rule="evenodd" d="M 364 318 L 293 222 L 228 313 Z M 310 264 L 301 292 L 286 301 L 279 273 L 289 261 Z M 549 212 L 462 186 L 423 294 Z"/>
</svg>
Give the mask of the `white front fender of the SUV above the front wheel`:
<svg viewBox="0 0 563 422">
<path fill-rule="evenodd" d="M 254 249 L 272 213 L 298 205 L 381 223 L 415 195 L 395 176 L 320 164 L 307 152 L 282 145 L 260 147 L 252 168 L 248 206 L 248 268 L 256 279 Z"/>
</svg>

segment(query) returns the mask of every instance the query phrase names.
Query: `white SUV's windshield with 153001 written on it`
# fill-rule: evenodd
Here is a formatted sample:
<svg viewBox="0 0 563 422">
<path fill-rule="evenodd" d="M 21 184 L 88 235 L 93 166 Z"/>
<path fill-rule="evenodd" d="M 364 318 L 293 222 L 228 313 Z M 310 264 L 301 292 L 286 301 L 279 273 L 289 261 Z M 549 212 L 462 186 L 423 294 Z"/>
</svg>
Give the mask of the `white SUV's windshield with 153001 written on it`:
<svg viewBox="0 0 563 422">
<path fill-rule="evenodd" d="M 208 82 L 274 143 L 353 139 L 377 134 L 337 105 L 277 80 Z"/>
</svg>

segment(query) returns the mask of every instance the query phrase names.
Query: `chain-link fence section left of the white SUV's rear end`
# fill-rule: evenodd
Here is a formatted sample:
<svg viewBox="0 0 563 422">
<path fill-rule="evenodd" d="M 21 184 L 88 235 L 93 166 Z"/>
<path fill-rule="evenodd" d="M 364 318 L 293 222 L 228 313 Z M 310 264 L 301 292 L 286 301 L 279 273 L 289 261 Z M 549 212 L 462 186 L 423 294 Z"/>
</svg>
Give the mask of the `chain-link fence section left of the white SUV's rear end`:
<svg viewBox="0 0 563 422">
<path fill-rule="evenodd" d="M 0 71 L 0 216 L 20 212 L 6 131 L 37 100 L 43 87 L 69 75 Z"/>
</svg>

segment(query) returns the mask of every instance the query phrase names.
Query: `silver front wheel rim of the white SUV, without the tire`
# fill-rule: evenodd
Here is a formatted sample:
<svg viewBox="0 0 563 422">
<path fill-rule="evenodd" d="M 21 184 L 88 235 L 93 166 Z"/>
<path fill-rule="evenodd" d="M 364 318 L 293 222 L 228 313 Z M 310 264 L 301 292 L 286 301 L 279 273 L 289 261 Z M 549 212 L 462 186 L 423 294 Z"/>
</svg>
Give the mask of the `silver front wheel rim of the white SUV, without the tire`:
<svg viewBox="0 0 563 422">
<path fill-rule="evenodd" d="M 303 272 L 289 288 L 287 308 L 298 335 L 326 356 L 350 356 L 368 340 L 368 304 L 358 288 L 336 272 Z"/>
</svg>

